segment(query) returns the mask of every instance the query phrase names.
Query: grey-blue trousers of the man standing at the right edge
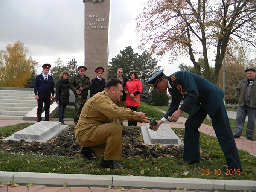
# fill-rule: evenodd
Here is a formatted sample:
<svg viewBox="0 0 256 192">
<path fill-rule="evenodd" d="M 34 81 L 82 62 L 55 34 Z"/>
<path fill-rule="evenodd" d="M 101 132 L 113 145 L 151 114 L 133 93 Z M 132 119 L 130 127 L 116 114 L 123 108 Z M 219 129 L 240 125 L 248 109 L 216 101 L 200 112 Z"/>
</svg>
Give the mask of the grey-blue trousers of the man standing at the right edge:
<svg viewBox="0 0 256 192">
<path fill-rule="evenodd" d="M 236 124 L 234 134 L 241 136 L 246 115 L 248 116 L 247 128 L 246 128 L 246 137 L 253 137 L 255 121 L 256 121 L 256 108 L 251 108 L 249 106 L 238 106 L 236 112 Z"/>
</svg>

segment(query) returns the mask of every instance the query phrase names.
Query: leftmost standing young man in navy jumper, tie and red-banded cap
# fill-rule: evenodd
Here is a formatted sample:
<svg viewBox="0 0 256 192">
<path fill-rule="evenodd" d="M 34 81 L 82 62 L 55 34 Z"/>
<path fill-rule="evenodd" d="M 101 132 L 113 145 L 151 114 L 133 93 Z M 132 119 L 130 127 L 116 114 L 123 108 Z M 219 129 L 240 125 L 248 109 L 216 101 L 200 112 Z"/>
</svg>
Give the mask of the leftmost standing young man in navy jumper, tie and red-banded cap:
<svg viewBox="0 0 256 192">
<path fill-rule="evenodd" d="M 43 64 L 43 73 L 35 78 L 34 93 L 37 99 L 37 122 L 42 120 L 42 109 L 44 103 L 45 121 L 49 121 L 50 101 L 54 99 L 54 81 L 52 76 L 48 75 L 51 65 Z M 52 92 L 52 96 L 51 96 Z"/>
</svg>

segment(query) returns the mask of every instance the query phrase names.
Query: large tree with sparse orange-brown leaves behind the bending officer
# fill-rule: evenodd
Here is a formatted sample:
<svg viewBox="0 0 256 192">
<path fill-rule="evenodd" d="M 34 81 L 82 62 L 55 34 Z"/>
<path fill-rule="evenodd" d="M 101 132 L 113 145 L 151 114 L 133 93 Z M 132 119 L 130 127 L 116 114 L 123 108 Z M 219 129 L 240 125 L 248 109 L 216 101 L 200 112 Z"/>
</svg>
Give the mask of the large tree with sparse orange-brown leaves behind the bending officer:
<svg viewBox="0 0 256 192">
<path fill-rule="evenodd" d="M 160 56 L 171 52 L 170 60 L 189 55 L 198 75 L 195 55 L 203 55 L 206 79 L 216 84 L 228 46 L 239 41 L 256 48 L 255 12 L 255 0 L 148 0 L 136 20 L 140 47 L 149 44 Z M 209 50 L 215 50 L 212 78 Z"/>
</svg>

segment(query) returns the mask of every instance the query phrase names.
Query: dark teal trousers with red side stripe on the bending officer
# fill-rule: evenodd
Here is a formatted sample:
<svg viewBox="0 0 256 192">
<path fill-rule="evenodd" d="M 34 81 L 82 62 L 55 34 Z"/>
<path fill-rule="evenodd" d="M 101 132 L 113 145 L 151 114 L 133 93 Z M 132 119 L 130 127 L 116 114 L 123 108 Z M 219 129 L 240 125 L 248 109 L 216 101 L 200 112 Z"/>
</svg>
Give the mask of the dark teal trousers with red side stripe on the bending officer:
<svg viewBox="0 0 256 192">
<path fill-rule="evenodd" d="M 185 122 L 184 160 L 200 160 L 198 128 L 207 116 L 206 111 L 200 108 Z M 212 118 L 212 126 L 224 153 L 229 169 L 242 169 L 241 161 L 236 148 L 235 139 L 230 128 L 229 119 L 224 103 L 218 108 Z"/>
</svg>

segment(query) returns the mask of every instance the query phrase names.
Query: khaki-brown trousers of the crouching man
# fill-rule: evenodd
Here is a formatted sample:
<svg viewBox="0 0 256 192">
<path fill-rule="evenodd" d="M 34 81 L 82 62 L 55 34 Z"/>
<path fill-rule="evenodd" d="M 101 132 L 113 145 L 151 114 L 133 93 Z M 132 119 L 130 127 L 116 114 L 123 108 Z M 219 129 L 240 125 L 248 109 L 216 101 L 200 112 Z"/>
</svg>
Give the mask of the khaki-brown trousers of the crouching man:
<svg viewBox="0 0 256 192">
<path fill-rule="evenodd" d="M 122 126 L 120 123 L 106 123 L 84 131 L 84 140 L 79 145 L 93 149 L 97 157 L 104 153 L 105 160 L 122 158 Z"/>
</svg>

